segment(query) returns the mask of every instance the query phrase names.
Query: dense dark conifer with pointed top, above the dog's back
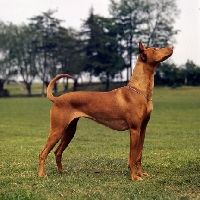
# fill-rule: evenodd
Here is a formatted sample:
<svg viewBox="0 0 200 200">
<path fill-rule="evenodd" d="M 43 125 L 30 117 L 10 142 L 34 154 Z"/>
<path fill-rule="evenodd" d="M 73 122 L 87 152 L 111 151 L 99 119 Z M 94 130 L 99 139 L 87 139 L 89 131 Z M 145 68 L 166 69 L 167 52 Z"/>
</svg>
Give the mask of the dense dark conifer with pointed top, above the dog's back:
<svg viewBox="0 0 200 200">
<path fill-rule="evenodd" d="M 108 90 L 110 80 L 124 68 L 124 60 L 119 55 L 117 26 L 112 19 L 94 15 L 91 10 L 85 22 L 86 31 L 86 70 L 91 76 L 99 76 L 106 82 Z"/>
</svg>

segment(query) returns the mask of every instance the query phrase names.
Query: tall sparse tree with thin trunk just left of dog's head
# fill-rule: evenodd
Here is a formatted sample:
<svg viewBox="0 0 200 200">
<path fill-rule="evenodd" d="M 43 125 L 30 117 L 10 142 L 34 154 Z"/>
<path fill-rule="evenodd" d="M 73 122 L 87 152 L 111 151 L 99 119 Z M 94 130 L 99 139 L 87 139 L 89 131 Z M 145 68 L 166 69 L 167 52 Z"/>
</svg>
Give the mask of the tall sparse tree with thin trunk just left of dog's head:
<svg viewBox="0 0 200 200">
<path fill-rule="evenodd" d="M 146 30 L 147 14 L 143 8 L 148 5 L 146 0 L 116 0 L 110 1 L 110 14 L 118 25 L 118 40 L 121 44 L 122 55 L 127 67 L 127 81 L 132 73 L 132 55 L 136 54 L 140 36 Z M 130 72 L 129 72 L 130 69 Z"/>
</svg>

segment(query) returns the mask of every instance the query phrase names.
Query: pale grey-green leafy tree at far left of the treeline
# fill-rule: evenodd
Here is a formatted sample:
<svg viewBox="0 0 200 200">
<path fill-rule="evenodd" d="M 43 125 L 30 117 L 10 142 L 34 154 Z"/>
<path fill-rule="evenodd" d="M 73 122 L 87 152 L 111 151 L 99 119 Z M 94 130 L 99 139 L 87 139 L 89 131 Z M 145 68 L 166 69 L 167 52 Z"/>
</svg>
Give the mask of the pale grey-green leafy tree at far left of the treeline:
<svg viewBox="0 0 200 200">
<path fill-rule="evenodd" d="M 3 66 L 7 74 L 21 74 L 27 94 L 31 95 L 31 85 L 37 74 L 35 58 L 31 51 L 31 32 L 27 26 L 5 25 Z"/>
</svg>

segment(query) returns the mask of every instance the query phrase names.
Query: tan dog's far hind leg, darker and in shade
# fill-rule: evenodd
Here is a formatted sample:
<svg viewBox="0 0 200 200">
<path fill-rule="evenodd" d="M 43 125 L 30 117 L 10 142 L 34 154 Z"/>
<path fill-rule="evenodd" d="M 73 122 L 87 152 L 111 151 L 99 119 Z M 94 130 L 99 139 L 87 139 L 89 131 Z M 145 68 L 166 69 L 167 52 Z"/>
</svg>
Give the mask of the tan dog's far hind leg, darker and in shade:
<svg viewBox="0 0 200 200">
<path fill-rule="evenodd" d="M 66 130 L 63 133 L 63 136 L 61 138 L 61 142 L 57 149 L 55 150 L 55 156 L 56 156 L 56 164 L 58 167 L 58 171 L 63 173 L 66 172 L 66 170 L 62 167 L 62 153 L 67 148 L 68 144 L 71 142 L 72 138 L 74 137 L 74 134 L 76 132 L 76 126 L 79 118 L 75 118 L 66 128 Z"/>
</svg>

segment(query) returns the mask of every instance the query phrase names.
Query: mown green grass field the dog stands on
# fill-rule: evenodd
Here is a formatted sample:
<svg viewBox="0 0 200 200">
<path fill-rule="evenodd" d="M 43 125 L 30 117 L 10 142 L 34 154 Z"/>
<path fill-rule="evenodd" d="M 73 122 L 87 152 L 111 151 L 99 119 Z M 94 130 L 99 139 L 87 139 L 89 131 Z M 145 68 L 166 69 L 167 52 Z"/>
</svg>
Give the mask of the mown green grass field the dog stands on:
<svg viewBox="0 0 200 200">
<path fill-rule="evenodd" d="M 150 176 L 130 181 L 128 131 L 87 119 L 80 120 L 64 152 L 68 172 L 57 172 L 52 151 L 45 165 L 48 178 L 38 178 L 52 103 L 1 98 L 0 199 L 200 199 L 200 88 L 155 88 L 153 102 L 143 152 Z"/>
</svg>

